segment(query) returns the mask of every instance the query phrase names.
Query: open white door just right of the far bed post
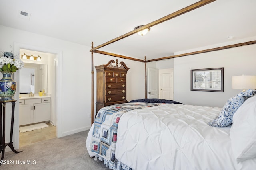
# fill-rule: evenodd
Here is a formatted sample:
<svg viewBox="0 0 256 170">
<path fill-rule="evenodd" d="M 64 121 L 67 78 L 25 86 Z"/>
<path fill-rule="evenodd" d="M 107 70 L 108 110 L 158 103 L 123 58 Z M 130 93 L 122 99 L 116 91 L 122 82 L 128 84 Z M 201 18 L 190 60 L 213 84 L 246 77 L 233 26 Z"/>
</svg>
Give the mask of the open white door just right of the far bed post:
<svg viewBox="0 0 256 170">
<path fill-rule="evenodd" d="M 158 69 L 148 68 L 148 99 L 158 97 Z"/>
</svg>

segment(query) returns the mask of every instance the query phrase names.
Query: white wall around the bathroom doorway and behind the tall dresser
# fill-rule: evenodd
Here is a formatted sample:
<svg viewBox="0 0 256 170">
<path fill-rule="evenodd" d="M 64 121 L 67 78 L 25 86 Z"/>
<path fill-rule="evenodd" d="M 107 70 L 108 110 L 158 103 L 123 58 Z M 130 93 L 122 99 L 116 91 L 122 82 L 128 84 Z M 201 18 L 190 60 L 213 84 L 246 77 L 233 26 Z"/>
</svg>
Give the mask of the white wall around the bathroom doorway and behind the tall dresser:
<svg viewBox="0 0 256 170">
<path fill-rule="evenodd" d="M 91 113 L 91 47 L 2 25 L 0 25 L 0 37 L 0 51 L 10 51 L 10 45 L 14 47 L 14 44 L 24 44 L 32 47 L 28 50 L 45 49 L 42 52 L 57 51 L 58 54 L 62 54 L 62 82 L 60 82 L 62 85 L 62 123 L 60 125 L 62 136 L 89 129 L 91 126 L 91 118 L 89 118 Z M 84 39 L 84 41 L 91 40 Z M 14 55 L 18 55 L 17 51 L 19 49 L 14 49 Z M 94 66 L 106 64 L 111 59 L 116 60 L 115 57 L 94 54 Z M 144 63 L 118 58 L 118 63 L 120 61 L 124 61 L 130 68 L 127 74 L 127 100 L 143 98 L 144 83 L 141 83 L 141 81 L 144 82 Z M 94 80 L 96 80 L 95 69 L 94 72 Z M 14 73 L 14 80 L 18 83 L 18 72 Z M 94 85 L 96 95 L 96 83 Z M 17 93 L 15 95 L 16 99 L 18 99 Z M 96 103 L 96 100 L 94 102 Z M 6 107 L 6 111 L 10 111 L 10 106 L 7 105 Z M 6 116 L 7 127 L 9 126 L 8 119 L 10 120 L 10 117 Z M 19 140 L 18 131 L 18 107 L 16 107 L 14 120 L 15 148 Z M 10 131 L 6 129 L 6 142 L 9 133 Z"/>
</svg>

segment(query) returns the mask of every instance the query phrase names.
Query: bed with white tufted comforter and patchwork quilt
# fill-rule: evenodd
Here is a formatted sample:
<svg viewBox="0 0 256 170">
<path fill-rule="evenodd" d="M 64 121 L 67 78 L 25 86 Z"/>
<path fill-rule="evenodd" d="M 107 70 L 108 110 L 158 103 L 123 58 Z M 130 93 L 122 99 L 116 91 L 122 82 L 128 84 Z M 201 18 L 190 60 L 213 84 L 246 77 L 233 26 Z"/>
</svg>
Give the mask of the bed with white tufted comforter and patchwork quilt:
<svg viewBox="0 0 256 170">
<path fill-rule="evenodd" d="M 91 157 L 99 158 L 112 169 L 252 170 L 256 167 L 254 94 L 240 103 L 232 115 L 233 124 L 226 127 L 208 125 L 220 117 L 223 109 L 217 107 L 175 102 L 107 106 L 97 114 L 86 147 Z M 140 108 L 127 109 L 129 105 Z M 108 114 L 104 117 L 108 123 L 118 120 L 118 126 L 110 125 L 108 129 L 108 123 L 102 123 L 97 127 L 102 113 L 113 108 L 120 111 L 112 118 Z M 95 142 L 96 138 L 101 139 Z M 106 149 L 105 145 L 111 142 L 114 145 Z"/>
</svg>

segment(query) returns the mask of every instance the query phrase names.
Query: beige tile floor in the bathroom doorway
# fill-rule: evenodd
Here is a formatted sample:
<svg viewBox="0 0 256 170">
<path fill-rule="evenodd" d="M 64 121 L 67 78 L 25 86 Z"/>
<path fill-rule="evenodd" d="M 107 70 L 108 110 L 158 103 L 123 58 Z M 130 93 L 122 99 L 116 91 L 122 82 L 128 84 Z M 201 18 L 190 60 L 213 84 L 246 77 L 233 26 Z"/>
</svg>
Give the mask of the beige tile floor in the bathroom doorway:
<svg viewBox="0 0 256 170">
<path fill-rule="evenodd" d="M 49 127 L 20 133 L 20 147 L 39 141 L 56 138 L 56 126 L 46 123 Z"/>
</svg>

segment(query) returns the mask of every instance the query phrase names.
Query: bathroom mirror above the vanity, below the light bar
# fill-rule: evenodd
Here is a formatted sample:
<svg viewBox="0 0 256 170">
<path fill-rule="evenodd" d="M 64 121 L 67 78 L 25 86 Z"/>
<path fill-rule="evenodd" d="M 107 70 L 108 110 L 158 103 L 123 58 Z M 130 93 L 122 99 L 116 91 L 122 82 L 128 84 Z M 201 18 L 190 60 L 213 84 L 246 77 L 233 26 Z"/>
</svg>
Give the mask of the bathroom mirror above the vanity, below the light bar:
<svg viewBox="0 0 256 170">
<path fill-rule="evenodd" d="M 47 64 L 24 63 L 19 71 L 20 94 L 47 92 Z"/>
</svg>

